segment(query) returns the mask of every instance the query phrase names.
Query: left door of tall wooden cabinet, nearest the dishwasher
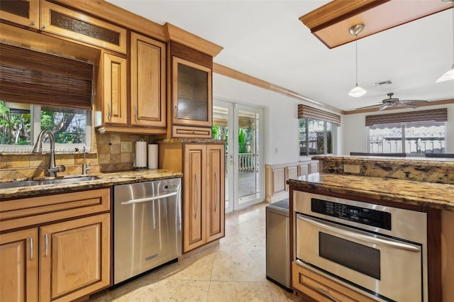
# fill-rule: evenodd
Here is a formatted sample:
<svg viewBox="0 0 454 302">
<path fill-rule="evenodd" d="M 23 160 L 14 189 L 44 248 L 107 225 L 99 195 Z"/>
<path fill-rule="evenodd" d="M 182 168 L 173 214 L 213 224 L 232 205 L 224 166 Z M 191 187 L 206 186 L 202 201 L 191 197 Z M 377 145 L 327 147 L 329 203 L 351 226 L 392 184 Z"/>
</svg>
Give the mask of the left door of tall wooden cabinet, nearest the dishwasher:
<svg viewBox="0 0 454 302">
<path fill-rule="evenodd" d="M 206 243 L 205 145 L 184 147 L 183 249 L 185 252 Z"/>
</svg>

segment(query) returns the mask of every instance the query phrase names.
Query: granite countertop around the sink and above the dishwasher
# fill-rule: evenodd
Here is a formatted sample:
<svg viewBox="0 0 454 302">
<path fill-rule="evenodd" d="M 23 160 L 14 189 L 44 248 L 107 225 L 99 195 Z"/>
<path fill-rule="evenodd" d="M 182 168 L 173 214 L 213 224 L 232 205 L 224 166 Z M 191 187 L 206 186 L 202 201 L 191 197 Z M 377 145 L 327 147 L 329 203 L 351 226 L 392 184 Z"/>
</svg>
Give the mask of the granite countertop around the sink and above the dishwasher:
<svg viewBox="0 0 454 302">
<path fill-rule="evenodd" d="M 166 169 L 145 169 L 140 171 L 90 173 L 89 176 L 99 177 L 99 179 L 89 181 L 74 181 L 60 184 L 45 184 L 39 186 L 21 186 L 11 189 L 0 189 L 0 201 L 4 201 L 6 199 L 11 198 L 23 198 L 43 194 L 69 193 L 71 191 L 96 189 L 106 186 L 114 186 L 116 184 L 131 184 L 134 182 L 169 179 L 175 177 L 182 177 L 183 174 L 181 172 L 174 172 Z M 40 179 L 49 178 L 41 177 Z M 28 179 L 2 179 L 0 182 L 6 182 L 6 180 L 23 181 Z"/>
</svg>

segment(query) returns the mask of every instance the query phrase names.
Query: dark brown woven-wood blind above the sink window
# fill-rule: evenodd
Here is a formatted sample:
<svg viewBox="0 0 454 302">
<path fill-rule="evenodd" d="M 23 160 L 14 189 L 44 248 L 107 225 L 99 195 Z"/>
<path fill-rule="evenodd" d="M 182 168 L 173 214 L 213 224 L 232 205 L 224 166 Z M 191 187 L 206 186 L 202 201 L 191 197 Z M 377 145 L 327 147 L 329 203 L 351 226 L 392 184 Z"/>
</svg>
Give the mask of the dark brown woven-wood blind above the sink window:
<svg viewBox="0 0 454 302">
<path fill-rule="evenodd" d="M 0 101 L 92 110 L 93 65 L 0 44 Z"/>
</svg>

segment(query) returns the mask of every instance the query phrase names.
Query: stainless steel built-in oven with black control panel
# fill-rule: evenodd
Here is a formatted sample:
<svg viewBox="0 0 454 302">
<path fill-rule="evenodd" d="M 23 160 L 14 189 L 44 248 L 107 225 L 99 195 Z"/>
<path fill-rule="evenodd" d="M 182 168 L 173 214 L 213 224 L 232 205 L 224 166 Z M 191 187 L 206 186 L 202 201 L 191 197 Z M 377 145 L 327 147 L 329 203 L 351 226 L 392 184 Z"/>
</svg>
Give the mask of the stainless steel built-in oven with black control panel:
<svg viewBox="0 0 454 302">
<path fill-rule="evenodd" d="M 294 191 L 296 262 L 379 301 L 427 301 L 426 213 Z"/>
</svg>

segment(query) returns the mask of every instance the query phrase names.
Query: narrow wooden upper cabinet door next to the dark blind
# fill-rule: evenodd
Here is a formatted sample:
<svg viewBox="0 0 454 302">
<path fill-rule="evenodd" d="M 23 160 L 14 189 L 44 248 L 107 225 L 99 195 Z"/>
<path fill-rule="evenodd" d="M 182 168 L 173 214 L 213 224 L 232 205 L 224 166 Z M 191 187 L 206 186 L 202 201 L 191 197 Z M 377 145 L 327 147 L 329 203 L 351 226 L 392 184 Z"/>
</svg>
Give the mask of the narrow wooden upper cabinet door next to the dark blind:
<svg viewBox="0 0 454 302">
<path fill-rule="evenodd" d="M 125 58 L 104 53 L 104 123 L 128 123 L 126 64 Z"/>
</svg>

